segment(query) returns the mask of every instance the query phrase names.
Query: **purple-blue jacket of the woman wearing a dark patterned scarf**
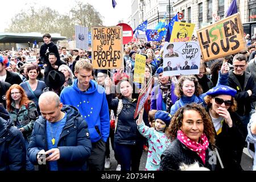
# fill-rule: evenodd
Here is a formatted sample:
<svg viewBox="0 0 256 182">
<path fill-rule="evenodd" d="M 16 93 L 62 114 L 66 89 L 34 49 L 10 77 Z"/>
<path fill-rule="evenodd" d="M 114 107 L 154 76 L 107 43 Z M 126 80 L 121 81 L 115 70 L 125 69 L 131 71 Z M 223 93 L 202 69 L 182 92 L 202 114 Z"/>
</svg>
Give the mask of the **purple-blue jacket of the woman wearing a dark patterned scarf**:
<svg viewBox="0 0 256 182">
<path fill-rule="evenodd" d="M 172 104 L 174 104 L 176 102 L 176 100 L 177 100 L 177 96 L 174 94 L 174 89 L 175 89 L 175 84 L 172 83 L 172 88 L 171 88 L 171 101 L 172 101 Z M 152 110 L 152 109 L 162 110 L 163 98 L 162 98 L 162 94 L 161 94 L 159 85 L 156 85 L 152 89 L 150 100 L 151 100 L 150 110 Z"/>
</svg>

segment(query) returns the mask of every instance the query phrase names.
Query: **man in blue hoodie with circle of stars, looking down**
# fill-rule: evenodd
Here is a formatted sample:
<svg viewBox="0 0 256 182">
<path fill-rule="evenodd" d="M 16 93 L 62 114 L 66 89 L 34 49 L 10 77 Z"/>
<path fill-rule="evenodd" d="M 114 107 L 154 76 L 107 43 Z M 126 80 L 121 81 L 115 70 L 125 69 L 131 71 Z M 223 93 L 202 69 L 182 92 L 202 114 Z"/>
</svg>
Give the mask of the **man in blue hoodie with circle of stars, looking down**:
<svg viewBox="0 0 256 182">
<path fill-rule="evenodd" d="M 92 154 L 88 160 L 89 170 L 103 171 L 105 164 L 105 146 L 109 137 L 109 107 L 105 89 L 91 80 L 92 64 L 79 60 L 75 65 L 77 79 L 72 86 L 64 88 L 60 94 L 63 104 L 79 109 L 81 117 L 88 123 Z"/>
</svg>

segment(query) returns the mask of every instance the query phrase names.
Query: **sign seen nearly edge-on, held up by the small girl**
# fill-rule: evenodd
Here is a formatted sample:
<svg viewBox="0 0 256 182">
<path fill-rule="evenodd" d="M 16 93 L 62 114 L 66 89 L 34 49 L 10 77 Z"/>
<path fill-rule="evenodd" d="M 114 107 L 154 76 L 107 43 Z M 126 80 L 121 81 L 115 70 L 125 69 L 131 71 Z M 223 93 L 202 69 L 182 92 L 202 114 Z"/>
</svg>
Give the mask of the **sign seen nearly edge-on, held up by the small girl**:
<svg viewBox="0 0 256 182">
<path fill-rule="evenodd" d="M 139 112 L 142 110 L 144 104 L 147 102 L 148 97 L 150 96 L 152 90 L 152 79 L 153 77 L 151 77 L 151 79 L 147 82 L 147 85 L 142 90 L 141 94 L 139 94 L 136 110 L 134 113 L 134 119 L 137 118 Z"/>
</svg>

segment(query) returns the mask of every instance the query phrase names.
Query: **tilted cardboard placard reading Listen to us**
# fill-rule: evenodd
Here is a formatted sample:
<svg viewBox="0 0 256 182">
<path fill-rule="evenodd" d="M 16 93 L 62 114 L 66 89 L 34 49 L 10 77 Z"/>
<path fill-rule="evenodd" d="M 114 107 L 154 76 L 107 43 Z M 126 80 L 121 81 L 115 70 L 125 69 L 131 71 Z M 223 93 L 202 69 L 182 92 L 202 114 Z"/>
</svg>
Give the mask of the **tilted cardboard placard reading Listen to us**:
<svg viewBox="0 0 256 182">
<path fill-rule="evenodd" d="M 234 14 L 197 31 L 204 61 L 246 50 L 240 14 Z"/>
</svg>

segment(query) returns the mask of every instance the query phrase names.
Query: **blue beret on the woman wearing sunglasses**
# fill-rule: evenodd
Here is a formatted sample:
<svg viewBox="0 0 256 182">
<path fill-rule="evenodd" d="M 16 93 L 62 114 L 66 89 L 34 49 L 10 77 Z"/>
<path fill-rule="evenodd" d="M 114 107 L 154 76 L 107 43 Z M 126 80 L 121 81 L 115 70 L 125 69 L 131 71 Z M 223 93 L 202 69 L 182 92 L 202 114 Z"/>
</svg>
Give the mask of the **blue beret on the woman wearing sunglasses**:
<svg viewBox="0 0 256 182">
<path fill-rule="evenodd" d="M 218 85 L 209 89 L 206 93 L 208 96 L 218 96 L 218 95 L 228 95 L 228 96 L 236 96 L 237 90 L 231 88 L 226 85 Z"/>
</svg>

